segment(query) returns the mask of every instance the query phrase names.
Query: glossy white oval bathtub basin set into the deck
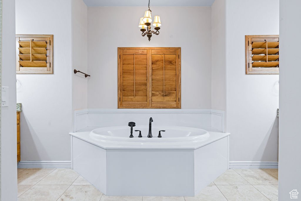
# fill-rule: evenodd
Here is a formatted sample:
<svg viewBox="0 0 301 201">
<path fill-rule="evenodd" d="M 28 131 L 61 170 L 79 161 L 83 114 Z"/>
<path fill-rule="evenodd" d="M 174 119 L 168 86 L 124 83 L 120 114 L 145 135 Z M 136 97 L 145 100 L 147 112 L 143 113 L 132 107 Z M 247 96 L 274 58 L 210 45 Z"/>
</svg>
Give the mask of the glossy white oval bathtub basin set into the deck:
<svg viewBox="0 0 301 201">
<path fill-rule="evenodd" d="M 141 130 L 142 137 L 138 137 Z M 157 137 L 159 130 L 165 130 L 161 132 L 161 138 Z M 172 142 L 189 142 L 189 141 L 204 141 L 209 138 L 209 133 L 206 130 L 192 127 L 182 126 L 162 126 L 152 127 L 152 138 L 147 137 L 148 126 L 135 126 L 133 127 L 134 137 L 130 138 L 129 126 L 114 126 L 114 127 L 101 127 L 96 128 L 90 132 L 90 137 L 96 140 L 109 140 L 117 142 L 129 142 L 129 143 L 172 143 Z"/>
</svg>

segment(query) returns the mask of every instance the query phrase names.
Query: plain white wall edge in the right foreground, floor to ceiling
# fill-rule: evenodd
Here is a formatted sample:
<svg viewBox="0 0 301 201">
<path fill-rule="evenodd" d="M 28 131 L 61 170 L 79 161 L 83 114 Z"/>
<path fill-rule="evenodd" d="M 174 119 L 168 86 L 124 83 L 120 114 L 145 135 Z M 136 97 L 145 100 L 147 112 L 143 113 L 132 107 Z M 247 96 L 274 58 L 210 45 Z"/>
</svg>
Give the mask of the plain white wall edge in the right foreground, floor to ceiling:
<svg viewBox="0 0 301 201">
<path fill-rule="evenodd" d="M 290 200 L 293 189 L 301 197 L 301 42 L 294 40 L 301 33 L 300 7 L 299 0 L 280 0 L 279 200 Z"/>
</svg>

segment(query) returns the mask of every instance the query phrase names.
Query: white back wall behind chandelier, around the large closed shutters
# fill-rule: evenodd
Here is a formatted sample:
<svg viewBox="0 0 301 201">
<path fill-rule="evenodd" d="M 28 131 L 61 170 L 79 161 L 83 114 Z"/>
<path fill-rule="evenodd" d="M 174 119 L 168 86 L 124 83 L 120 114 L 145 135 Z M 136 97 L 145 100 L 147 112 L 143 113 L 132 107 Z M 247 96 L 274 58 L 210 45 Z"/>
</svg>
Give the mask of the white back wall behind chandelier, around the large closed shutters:
<svg viewBox="0 0 301 201">
<path fill-rule="evenodd" d="M 211 8 L 151 9 L 162 26 L 149 42 L 146 7 L 88 7 L 88 108 L 117 108 L 117 47 L 181 47 L 182 108 L 211 108 Z"/>
</svg>

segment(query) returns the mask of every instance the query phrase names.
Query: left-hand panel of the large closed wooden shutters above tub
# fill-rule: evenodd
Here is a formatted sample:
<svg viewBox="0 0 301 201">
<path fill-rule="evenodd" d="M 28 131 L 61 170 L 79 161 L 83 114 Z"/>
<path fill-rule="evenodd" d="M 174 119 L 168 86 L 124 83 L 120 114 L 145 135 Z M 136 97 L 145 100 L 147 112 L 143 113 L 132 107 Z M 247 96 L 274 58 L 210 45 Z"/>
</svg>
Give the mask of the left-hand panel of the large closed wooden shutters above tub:
<svg viewBox="0 0 301 201">
<path fill-rule="evenodd" d="M 119 50 L 119 104 L 118 108 L 147 108 L 147 50 Z"/>
</svg>

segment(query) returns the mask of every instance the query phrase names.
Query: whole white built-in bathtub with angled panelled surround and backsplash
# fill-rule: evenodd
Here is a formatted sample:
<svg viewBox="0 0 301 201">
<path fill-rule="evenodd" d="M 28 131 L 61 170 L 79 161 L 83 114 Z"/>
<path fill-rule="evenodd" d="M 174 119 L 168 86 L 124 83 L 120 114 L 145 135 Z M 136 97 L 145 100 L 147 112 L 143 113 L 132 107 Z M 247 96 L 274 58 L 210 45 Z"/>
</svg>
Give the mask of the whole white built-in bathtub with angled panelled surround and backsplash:
<svg viewBox="0 0 301 201">
<path fill-rule="evenodd" d="M 97 127 L 70 133 L 73 169 L 108 196 L 194 196 L 228 169 L 229 133 L 211 127 L 210 110 L 75 113 L 75 128 L 79 119 Z M 129 138 L 129 121 L 142 138 Z"/>
</svg>

